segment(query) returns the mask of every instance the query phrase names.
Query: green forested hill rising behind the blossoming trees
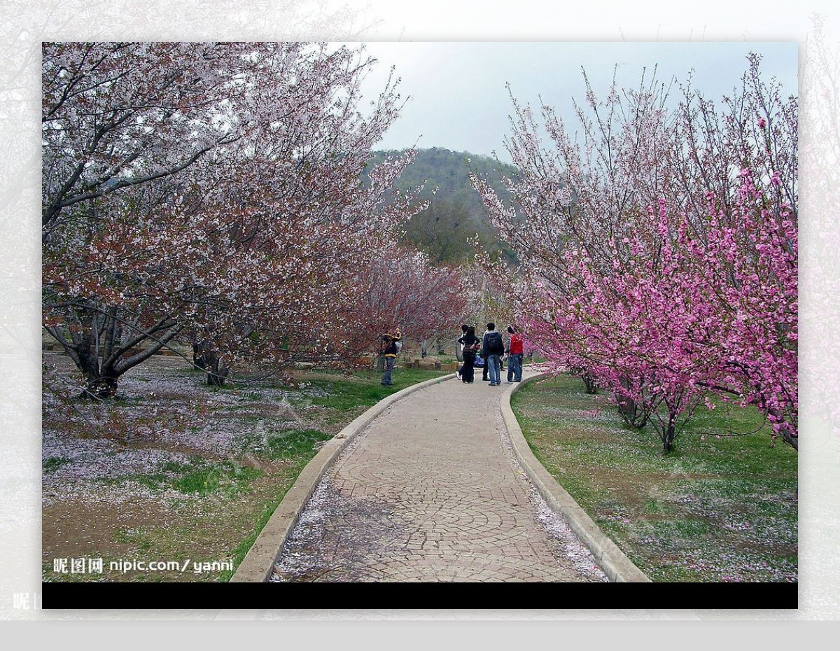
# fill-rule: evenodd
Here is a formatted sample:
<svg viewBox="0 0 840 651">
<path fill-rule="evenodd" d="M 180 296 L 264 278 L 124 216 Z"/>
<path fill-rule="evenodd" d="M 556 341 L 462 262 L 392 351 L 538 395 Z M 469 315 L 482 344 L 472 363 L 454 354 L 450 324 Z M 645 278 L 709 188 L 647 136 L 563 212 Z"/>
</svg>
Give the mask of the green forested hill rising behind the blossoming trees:
<svg viewBox="0 0 840 651">
<path fill-rule="evenodd" d="M 386 155 L 398 153 L 375 152 L 374 165 Z M 486 209 L 470 183 L 470 172 L 489 181 L 508 202 L 509 195 L 501 183 L 501 175 L 515 178 L 517 168 L 513 165 L 499 163 L 489 156 L 438 147 L 417 150 L 414 162 L 407 166 L 396 187 L 407 191 L 425 184 L 420 197 L 430 203 L 427 210 L 412 218 L 407 239 L 426 251 L 435 262 L 459 263 L 472 255 L 468 239 L 478 234 L 481 244 L 498 251 L 510 262 L 512 255 L 496 239 L 493 228 L 487 223 Z"/>
</svg>

